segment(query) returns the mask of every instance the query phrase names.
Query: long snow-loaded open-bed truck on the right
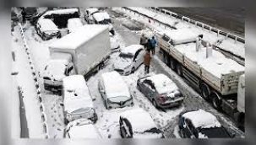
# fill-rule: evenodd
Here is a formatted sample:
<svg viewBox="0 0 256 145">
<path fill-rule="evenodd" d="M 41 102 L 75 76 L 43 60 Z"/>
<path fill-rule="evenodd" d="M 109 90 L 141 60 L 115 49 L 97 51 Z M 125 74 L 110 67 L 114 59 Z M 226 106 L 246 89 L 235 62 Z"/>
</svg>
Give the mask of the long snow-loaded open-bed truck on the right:
<svg viewBox="0 0 256 145">
<path fill-rule="evenodd" d="M 203 46 L 202 37 L 182 29 L 158 33 L 156 40 L 167 66 L 198 90 L 204 99 L 211 100 L 216 109 L 233 116 L 238 126 L 244 126 L 244 92 L 241 92 L 240 76 L 245 67 L 209 44 Z"/>
</svg>

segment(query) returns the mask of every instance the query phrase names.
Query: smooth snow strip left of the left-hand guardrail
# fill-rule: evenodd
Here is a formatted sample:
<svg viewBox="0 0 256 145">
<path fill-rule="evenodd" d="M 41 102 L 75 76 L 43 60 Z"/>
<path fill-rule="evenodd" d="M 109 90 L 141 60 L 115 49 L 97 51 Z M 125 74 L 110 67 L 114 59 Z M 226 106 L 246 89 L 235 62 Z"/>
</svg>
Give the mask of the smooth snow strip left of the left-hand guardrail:
<svg viewBox="0 0 256 145">
<path fill-rule="evenodd" d="M 16 58 L 17 69 L 17 83 L 21 87 L 24 94 L 24 103 L 26 110 L 26 119 L 28 121 L 29 136 L 31 138 L 43 138 L 44 132 L 41 121 L 41 112 L 39 110 L 39 102 L 37 99 L 35 82 L 30 69 L 29 59 L 25 53 L 24 43 L 19 33 L 19 27 L 14 28 L 14 38 L 18 41 L 12 41 L 12 48 L 17 52 Z"/>
</svg>

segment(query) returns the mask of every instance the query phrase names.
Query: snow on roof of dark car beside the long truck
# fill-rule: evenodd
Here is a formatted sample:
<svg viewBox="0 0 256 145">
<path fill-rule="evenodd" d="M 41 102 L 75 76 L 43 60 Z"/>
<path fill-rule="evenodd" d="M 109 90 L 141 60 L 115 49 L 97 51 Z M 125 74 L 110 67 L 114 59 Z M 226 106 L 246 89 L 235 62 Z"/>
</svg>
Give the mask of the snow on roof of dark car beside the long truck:
<svg viewBox="0 0 256 145">
<path fill-rule="evenodd" d="M 177 90 L 177 85 L 164 74 L 155 74 L 148 78 L 155 85 L 155 89 L 159 94 L 165 94 Z"/>
</svg>

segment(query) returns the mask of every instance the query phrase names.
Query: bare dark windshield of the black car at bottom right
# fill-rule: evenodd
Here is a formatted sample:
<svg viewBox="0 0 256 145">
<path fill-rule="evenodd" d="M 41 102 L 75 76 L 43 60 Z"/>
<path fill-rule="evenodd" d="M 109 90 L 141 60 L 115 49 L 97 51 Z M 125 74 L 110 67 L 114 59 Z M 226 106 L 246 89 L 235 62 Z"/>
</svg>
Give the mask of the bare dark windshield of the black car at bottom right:
<svg viewBox="0 0 256 145">
<path fill-rule="evenodd" d="M 209 138 L 230 138 L 230 134 L 226 131 L 226 129 L 221 127 L 215 128 L 200 128 L 199 132 L 204 134 L 206 137 Z"/>
</svg>

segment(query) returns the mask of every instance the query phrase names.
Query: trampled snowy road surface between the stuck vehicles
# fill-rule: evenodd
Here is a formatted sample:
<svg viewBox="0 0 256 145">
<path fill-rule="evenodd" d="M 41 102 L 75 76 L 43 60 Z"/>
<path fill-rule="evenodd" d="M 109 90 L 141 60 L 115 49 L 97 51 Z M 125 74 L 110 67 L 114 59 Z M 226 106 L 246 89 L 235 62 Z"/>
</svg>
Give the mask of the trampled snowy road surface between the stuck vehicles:
<svg viewBox="0 0 256 145">
<path fill-rule="evenodd" d="M 109 11 L 113 19 L 113 26 L 117 31 L 115 35 L 116 39 L 119 41 L 120 46 L 129 46 L 133 44 L 139 44 L 139 31 L 131 31 L 127 27 L 123 26 L 123 22 L 133 23 L 128 17 L 123 16 L 123 14 L 118 14 L 112 11 Z M 144 28 L 141 28 L 144 29 Z M 30 46 L 31 55 L 33 61 L 35 62 L 35 70 L 39 74 L 43 71 L 46 62 L 49 59 L 49 50 L 48 45 L 54 41 L 42 41 L 41 38 L 35 33 L 34 27 L 28 26 L 25 31 L 25 37 L 28 40 L 28 45 Z M 119 115 L 125 110 L 132 109 L 131 107 L 125 107 L 123 109 L 114 109 L 106 110 L 106 107 L 103 104 L 101 99 L 101 94 L 98 91 L 98 78 L 102 73 L 112 71 L 112 63 L 115 61 L 115 58 L 118 56 L 118 52 L 112 54 L 111 60 L 107 62 L 106 67 L 96 73 L 95 76 L 91 77 L 88 81 L 88 87 L 90 89 L 90 94 L 95 97 L 94 106 L 96 113 L 99 117 L 99 120 L 96 121 L 95 126 L 101 132 L 103 138 L 120 138 L 119 135 Z M 128 87 L 133 94 L 134 106 L 133 108 L 143 108 L 150 113 L 155 124 L 164 131 L 166 137 L 179 137 L 178 128 L 177 128 L 177 115 L 183 110 L 195 110 L 195 109 L 204 109 L 210 111 L 218 117 L 221 123 L 228 128 L 230 132 L 235 133 L 236 137 L 244 137 L 244 133 L 239 131 L 233 122 L 226 116 L 215 110 L 209 103 L 202 99 L 198 93 L 191 89 L 187 83 L 183 81 L 182 78 L 177 76 L 171 68 L 166 67 L 162 61 L 162 56 L 156 49 L 156 56 L 153 57 L 150 73 L 164 73 L 169 78 L 171 78 L 182 91 L 184 95 L 184 104 L 180 107 L 173 108 L 170 110 L 157 110 L 154 105 L 151 104 L 150 100 L 144 97 L 144 94 L 141 94 L 136 88 L 136 81 L 138 78 L 144 76 L 144 66 L 140 66 L 135 73 L 123 76 L 125 82 L 128 84 Z M 40 80 L 40 87 L 42 89 L 42 101 L 45 105 L 45 111 L 47 116 L 47 125 L 49 128 L 49 136 L 51 138 L 61 138 L 63 137 L 63 107 L 62 107 L 62 96 L 52 94 L 50 91 L 43 89 L 42 80 Z"/>
</svg>

